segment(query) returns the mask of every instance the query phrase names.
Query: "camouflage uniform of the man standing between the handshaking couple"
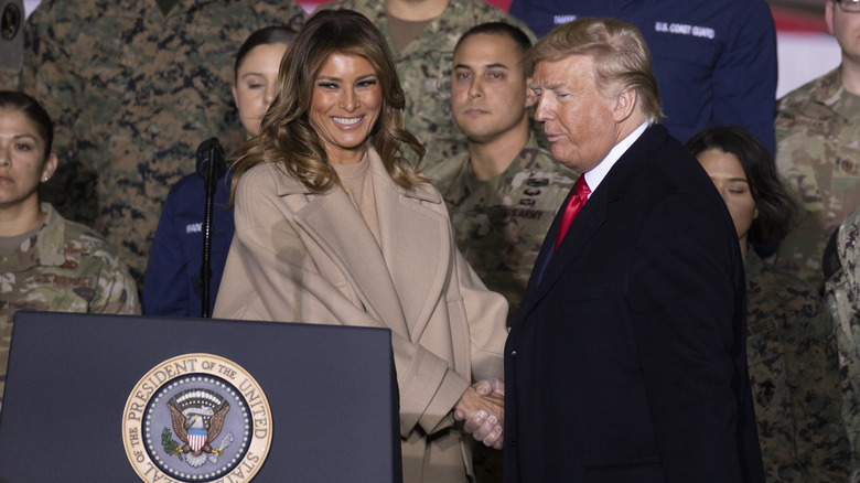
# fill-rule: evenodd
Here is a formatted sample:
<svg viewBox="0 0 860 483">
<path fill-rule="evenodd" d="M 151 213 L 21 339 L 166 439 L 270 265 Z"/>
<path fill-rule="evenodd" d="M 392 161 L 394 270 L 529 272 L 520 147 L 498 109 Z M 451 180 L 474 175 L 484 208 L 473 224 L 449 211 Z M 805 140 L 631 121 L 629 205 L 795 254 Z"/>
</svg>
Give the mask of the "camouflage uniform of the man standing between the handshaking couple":
<svg viewBox="0 0 860 483">
<path fill-rule="evenodd" d="M 508 301 L 507 325 L 514 321 L 544 237 L 577 182 L 537 144 L 535 136 L 499 175 L 475 178 L 469 154 L 428 168 L 451 214 L 456 245 L 481 280 Z"/>
</svg>

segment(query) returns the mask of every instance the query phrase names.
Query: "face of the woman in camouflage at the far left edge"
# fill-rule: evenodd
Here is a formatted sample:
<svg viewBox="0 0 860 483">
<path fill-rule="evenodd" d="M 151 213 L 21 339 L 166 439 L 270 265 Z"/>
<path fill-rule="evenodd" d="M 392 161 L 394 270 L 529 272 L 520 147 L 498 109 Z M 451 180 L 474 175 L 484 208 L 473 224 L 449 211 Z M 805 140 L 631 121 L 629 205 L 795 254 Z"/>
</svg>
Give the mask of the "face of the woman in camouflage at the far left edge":
<svg viewBox="0 0 860 483">
<path fill-rule="evenodd" d="M 20 110 L 0 109 L 0 210 L 36 207 L 36 187 L 55 169 L 39 126 Z"/>
</svg>

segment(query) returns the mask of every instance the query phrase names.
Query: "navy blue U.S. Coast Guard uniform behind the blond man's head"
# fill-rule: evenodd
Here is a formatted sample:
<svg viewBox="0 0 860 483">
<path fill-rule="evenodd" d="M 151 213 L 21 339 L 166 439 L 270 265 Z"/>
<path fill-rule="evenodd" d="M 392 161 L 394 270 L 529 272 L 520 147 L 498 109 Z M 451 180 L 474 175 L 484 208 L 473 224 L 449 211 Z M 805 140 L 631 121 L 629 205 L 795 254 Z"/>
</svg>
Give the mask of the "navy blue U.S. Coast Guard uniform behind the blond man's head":
<svg viewBox="0 0 860 483">
<path fill-rule="evenodd" d="M 773 153 L 776 31 L 764 0 L 513 0 L 510 13 L 540 36 L 580 17 L 636 25 L 674 137 L 687 142 L 708 126 L 733 124 Z"/>
</svg>

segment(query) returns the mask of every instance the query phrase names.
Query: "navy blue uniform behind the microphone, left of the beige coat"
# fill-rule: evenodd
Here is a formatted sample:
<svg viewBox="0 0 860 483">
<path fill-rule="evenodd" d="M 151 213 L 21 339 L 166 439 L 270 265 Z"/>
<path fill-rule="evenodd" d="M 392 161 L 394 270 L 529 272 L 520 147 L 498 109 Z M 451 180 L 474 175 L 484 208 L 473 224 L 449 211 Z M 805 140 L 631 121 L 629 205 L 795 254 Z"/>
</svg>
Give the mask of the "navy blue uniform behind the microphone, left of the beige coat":
<svg viewBox="0 0 860 483">
<path fill-rule="evenodd" d="M 212 216 L 212 282 L 209 313 L 215 307 L 224 264 L 230 247 L 233 210 L 227 210 L 233 171 L 216 183 Z M 143 281 L 143 313 L 147 315 L 200 316 L 202 309 L 200 267 L 203 264 L 203 216 L 206 186 L 192 173 L 168 194 L 149 253 Z"/>
</svg>

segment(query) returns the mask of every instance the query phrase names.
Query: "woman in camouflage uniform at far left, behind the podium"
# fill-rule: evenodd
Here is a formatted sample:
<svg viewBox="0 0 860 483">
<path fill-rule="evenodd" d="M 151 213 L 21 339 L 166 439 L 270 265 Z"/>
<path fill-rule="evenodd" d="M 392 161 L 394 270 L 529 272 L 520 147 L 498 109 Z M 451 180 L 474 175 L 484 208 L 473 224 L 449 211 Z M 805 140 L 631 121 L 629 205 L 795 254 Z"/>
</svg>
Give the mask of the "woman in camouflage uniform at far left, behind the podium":
<svg viewBox="0 0 860 483">
<path fill-rule="evenodd" d="M 0 92 L 0 396 L 19 310 L 140 313 L 117 250 L 39 202 L 57 164 L 52 138 L 39 103 Z"/>
</svg>

